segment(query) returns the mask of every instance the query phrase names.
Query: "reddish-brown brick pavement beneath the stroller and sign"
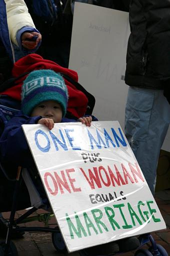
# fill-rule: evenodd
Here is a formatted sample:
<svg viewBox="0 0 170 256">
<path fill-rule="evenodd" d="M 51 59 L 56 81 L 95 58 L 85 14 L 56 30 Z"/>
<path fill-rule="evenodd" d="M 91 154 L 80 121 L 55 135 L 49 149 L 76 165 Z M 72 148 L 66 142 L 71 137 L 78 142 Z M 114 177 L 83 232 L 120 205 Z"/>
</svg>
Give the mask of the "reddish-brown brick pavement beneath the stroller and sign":
<svg viewBox="0 0 170 256">
<path fill-rule="evenodd" d="M 159 230 L 152 233 L 154 239 L 157 243 L 161 244 L 166 250 L 168 255 L 170 255 L 170 190 L 164 190 L 157 192 L 155 195 L 155 200 L 159 206 L 161 214 L 166 222 L 167 229 Z M 17 216 L 22 214 L 23 211 L 18 211 Z M 42 210 L 38 210 L 36 213 L 41 213 Z M 35 214 L 36 214 L 35 213 Z M 8 217 L 9 213 L 3 214 L 4 217 Z M 28 224 L 27 224 L 28 225 Z M 29 226 L 43 226 L 42 222 L 29 222 Z M 54 218 L 49 221 L 51 227 L 55 226 Z M 51 241 L 50 233 L 42 232 L 25 232 L 23 238 L 14 239 L 18 255 L 19 256 L 63 256 L 63 254 L 56 253 Z M 145 248 L 148 247 L 147 244 L 144 245 Z M 143 248 L 144 248 L 143 247 Z M 70 253 L 70 256 L 78 256 L 79 254 Z M 122 254 L 123 256 L 133 256 L 134 252 L 128 252 Z"/>
</svg>

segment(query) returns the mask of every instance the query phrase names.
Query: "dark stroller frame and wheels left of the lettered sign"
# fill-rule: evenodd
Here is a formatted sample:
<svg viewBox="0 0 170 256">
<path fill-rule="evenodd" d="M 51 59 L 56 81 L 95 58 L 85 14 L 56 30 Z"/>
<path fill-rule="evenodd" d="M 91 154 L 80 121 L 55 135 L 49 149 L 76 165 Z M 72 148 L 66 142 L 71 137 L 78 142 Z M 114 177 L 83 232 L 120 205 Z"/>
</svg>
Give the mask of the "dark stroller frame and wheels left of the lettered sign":
<svg viewBox="0 0 170 256">
<path fill-rule="evenodd" d="M 0 219 L 2 220 L 2 222 L 5 223 L 5 225 L 7 225 L 7 234 L 6 234 L 6 239 L 5 241 L 0 241 L 0 256 L 4 255 L 4 256 L 17 256 L 17 250 L 16 247 L 13 243 L 11 243 L 11 232 L 12 229 L 14 228 L 15 231 L 41 231 L 41 232 L 51 232 L 52 233 L 52 242 L 53 245 L 55 247 L 55 249 L 58 252 L 65 252 L 66 251 L 66 247 L 65 244 L 63 242 L 63 239 L 61 237 L 60 231 L 58 227 L 55 228 L 49 228 L 49 227 L 20 227 L 17 226 L 17 224 L 21 224 L 21 223 L 25 223 L 25 222 L 29 222 L 29 221 L 34 221 L 34 220 L 38 220 L 38 221 L 43 221 L 44 224 L 47 226 L 48 220 L 54 216 L 53 214 L 50 213 L 43 213 L 43 214 L 39 214 L 37 216 L 33 216 L 33 217 L 28 217 L 30 216 L 33 212 L 35 212 L 37 210 L 36 207 L 32 207 L 29 210 L 27 210 L 25 213 L 23 213 L 20 217 L 18 217 L 16 220 L 14 220 L 14 215 L 16 212 L 16 207 L 17 207 L 17 196 L 18 196 L 18 192 L 19 192 L 19 184 L 22 180 L 22 176 L 21 176 L 21 167 L 18 167 L 17 170 L 17 175 L 16 175 L 16 179 L 10 179 L 7 174 L 5 173 L 4 168 L 2 167 L 2 165 L 0 164 L 0 169 L 1 171 L 4 173 L 5 177 L 12 181 L 15 182 L 15 187 L 14 187 L 14 192 L 13 192 L 13 200 L 12 200 L 12 207 L 11 207 L 11 212 L 10 212 L 10 216 L 9 216 L 9 220 L 6 221 L 3 217 L 0 217 Z M 39 207 L 41 208 L 41 207 Z"/>
</svg>

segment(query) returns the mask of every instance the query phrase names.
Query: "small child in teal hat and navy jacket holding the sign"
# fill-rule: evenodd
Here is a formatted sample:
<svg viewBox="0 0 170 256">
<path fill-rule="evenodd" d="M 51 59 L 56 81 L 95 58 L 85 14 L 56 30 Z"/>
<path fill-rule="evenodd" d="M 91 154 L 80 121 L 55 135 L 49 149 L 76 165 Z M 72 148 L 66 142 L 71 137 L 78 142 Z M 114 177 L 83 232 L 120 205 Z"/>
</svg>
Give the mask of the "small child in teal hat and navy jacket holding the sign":
<svg viewBox="0 0 170 256">
<path fill-rule="evenodd" d="M 52 70 L 32 71 L 24 80 L 21 92 L 21 111 L 12 117 L 4 127 L 0 138 L 0 151 L 5 167 L 26 167 L 30 175 L 37 176 L 37 170 L 30 154 L 21 124 L 44 124 L 51 130 L 56 122 L 75 121 L 64 118 L 68 101 L 67 88 L 63 78 Z M 78 119 L 90 126 L 91 116 Z M 9 163 L 10 160 L 10 163 Z M 37 181 L 36 181 L 37 182 Z M 36 183 L 36 187 L 39 185 Z M 39 188 L 39 186 L 38 186 Z M 40 188 L 41 195 L 44 195 Z M 88 249 L 89 254 L 111 254 L 122 249 L 134 249 L 139 245 L 136 237 L 109 242 Z M 128 249 L 127 249 L 128 247 Z"/>
</svg>

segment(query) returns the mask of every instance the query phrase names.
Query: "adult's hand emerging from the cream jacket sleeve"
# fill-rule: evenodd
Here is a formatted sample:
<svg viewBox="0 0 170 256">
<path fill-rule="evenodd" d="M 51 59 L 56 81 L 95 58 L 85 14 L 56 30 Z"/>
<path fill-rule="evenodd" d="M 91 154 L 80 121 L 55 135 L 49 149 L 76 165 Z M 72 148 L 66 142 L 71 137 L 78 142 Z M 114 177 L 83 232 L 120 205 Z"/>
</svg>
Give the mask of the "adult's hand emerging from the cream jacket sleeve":
<svg viewBox="0 0 170 256">
<path fill-rule="evenodd" d="M 36 41 L 31 41 L 32 37 L 37 36 Z M 21 42 L 22 42 L 22 46 L 25 47 L 28 50 L 33 50 L 37 44 L 41 41 L 41 34 L 37 33 L 37 32 L 24 32 L 21 35 Z M 29 39 L 30 41 L 26 40 Z"/>
</svg>

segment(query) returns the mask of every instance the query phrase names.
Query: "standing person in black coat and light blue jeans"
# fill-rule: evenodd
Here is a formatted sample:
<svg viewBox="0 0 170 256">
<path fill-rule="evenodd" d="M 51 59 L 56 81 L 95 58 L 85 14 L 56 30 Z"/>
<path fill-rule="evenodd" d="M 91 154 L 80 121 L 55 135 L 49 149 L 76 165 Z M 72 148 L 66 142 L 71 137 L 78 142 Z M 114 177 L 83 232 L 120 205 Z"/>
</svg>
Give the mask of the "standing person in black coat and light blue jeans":
<svg viewBox="0 0 170 256">
<path fill-rule="evenodd" d="M 125 136 L 154 195 L 170 122 L 170 1 L 132 0 L 125 83 Z"/>
</svg>

